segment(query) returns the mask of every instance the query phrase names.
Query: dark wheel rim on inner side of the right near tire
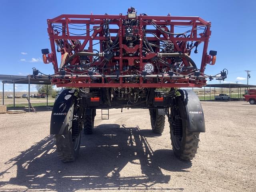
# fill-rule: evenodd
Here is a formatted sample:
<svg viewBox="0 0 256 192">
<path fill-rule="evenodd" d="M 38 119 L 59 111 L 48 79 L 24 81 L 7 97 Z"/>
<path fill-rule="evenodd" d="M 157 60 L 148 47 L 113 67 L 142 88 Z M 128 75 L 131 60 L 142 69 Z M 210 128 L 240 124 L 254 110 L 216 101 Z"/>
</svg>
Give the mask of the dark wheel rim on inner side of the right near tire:
<svg viewBox="0 0 256 192">
<path fill-rule="evenodd" d="M 182 146 L 183 141 L 183 122 L 180 116 L 179 108 L 176 108 L 176 116 L 172 117 L 172 144 L 177 150 Z"/>
</svg>

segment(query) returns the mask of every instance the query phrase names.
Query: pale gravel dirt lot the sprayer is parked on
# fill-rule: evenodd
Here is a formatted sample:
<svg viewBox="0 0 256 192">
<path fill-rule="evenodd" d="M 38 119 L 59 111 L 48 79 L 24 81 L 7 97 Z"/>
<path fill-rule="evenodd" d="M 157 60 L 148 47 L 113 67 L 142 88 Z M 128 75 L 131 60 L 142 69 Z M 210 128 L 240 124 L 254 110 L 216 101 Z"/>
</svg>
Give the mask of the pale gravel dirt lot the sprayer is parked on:
<svg viewBox="0 0 256 192">
<path fill-rule="evenodd" d="M 51 112 L 0 114 L 0 191 L 256 191 L 256 105 L 202 102 L 207 132 L 192 162 L 176 159 L 148 110 L 110 110 L 63 164 L 49 136 Z"/>
</svg>

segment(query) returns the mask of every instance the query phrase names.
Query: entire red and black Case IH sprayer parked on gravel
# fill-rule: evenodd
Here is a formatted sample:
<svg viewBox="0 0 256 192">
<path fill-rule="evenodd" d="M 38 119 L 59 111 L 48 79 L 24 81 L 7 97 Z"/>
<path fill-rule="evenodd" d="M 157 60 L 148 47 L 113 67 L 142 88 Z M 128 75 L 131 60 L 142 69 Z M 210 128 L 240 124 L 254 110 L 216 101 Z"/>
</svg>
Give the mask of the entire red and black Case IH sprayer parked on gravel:
<svg viewBox="0 0 256 192">
<path fill-rule="evenodd" d="M 76 159 L 82 131 L 93 131 L 96 109 L 110 108 L 149 109 L 156 134 L 162 133 L 167 116 L 175 155 L 181 160 L 195 156 L 199 134 L 205 132 L 204 113 L 192 90 L 177 88 L 200 88 L 206 78 L 226 78 L 226 70 L 204 74 L 217 54 L 207 52 L 210 22 L 137 14 L 130 7 L 125 15 L 63 14 L 47 24 L 52 51 L 42 49 L 43 61 L 53 64 L 52 84 L 66 87 L 56 98 L 50 123 L 60 160 Z M 200 68 L 190 57 L 199 44 Z M 34 77 L 39 74 L 34 68 Z"/>
</svg>

